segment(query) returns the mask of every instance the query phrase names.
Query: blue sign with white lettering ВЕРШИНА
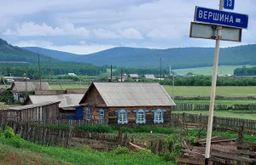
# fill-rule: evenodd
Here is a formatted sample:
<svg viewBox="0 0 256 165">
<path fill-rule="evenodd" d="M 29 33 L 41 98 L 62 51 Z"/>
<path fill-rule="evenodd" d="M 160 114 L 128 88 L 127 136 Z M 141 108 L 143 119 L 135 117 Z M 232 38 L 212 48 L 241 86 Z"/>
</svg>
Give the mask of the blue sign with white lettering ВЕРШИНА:
<svg viewBox="0 0 256 165">
<path fill-rule="evenodd" d="M 248 15 L 195 7 L 195 21 L 247 29 Z"/>
</svg>

